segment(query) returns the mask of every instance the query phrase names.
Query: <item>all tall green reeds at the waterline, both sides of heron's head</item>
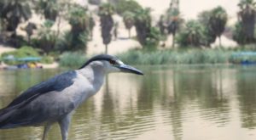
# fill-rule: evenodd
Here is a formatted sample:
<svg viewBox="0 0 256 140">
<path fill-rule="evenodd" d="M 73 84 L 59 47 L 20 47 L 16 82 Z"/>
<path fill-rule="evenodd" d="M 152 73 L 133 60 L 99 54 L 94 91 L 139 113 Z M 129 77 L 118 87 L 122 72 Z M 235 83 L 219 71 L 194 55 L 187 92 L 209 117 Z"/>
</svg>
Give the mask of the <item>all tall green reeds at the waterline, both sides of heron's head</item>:
<svg viewBox="0 0 256 140">
<path fill-rule="evenodd" d="M 256 61 L 256 56 L 236 57 L 235 53 L 253 52 L 247 49 L 226 48 L 177 48 L 165 50 L 137 50 L 132 49 L 119 53 L 117 57 L 125 64 L 157 65 L 157 64 L 229 64 L 241 61 Z M 64 67 L 78 68 L 86 61 L 83 53 L 64 53 L 60 64 Z"/>
</svg>

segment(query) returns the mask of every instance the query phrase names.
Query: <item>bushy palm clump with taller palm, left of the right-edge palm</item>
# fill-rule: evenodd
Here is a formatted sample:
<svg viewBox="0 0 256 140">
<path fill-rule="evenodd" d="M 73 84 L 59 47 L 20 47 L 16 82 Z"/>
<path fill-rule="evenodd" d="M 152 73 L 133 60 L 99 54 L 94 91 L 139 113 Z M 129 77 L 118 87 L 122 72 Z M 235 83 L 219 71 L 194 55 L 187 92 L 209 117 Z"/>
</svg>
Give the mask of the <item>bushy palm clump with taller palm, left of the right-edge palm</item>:
<svg viewBox="0 0 256 140">
<path fill-rule="evenodd" d="M 180 46 L 188 47 L 210 47 L 218 37 L 221 46 L 220 36 L 223 34 L 228 20 L 228 14 L 222 7 L 203 11 L 198 20 L 189 20 L 185 27 L 178 33 L 177 43 Z"/>
</svg>

